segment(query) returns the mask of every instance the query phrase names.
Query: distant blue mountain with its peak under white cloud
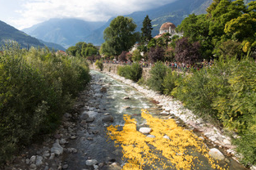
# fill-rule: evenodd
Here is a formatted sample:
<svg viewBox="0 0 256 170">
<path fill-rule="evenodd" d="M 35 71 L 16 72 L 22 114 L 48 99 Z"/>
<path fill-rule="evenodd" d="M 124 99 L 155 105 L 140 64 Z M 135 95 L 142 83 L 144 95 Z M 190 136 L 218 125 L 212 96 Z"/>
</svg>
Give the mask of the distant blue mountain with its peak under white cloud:
<svg viewBox="0 0 256 170">
<path fill-rule="evenodd" d="M 104 24 L 105 22 L 89 22 L 73 18 L 51 19 L 22 31 L 35 38 L 67 48 L 83 41 L 92 31 Z"/>
</svg>

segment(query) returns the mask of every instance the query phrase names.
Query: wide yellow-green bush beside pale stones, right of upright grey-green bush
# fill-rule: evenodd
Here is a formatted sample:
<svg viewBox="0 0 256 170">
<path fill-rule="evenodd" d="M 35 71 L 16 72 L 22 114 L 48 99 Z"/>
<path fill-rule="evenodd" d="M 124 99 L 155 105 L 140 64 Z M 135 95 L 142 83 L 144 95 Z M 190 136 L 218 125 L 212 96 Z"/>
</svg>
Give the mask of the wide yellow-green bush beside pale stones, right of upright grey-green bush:
<svg viewBox="0 0 256 170">
<path fill-rule="evenodd" d="M 216 89 L 209 84 L 205 69 L 177 79 L 176 87 L 171 94 L 182 101 L 187 108 L 193 110 L 194 114 L 211 121 L 217 119 L 217 110 L 212 106 Z"/>
</svg>

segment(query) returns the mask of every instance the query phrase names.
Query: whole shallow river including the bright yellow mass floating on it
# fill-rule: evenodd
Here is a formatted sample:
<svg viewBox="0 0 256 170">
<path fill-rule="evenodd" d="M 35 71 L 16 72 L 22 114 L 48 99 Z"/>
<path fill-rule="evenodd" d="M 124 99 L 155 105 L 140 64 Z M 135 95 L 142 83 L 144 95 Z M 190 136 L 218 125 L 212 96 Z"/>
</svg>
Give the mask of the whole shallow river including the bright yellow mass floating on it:
<svg viewBox="0 0 256 170">
<path fill-rule="evenodd" d="M 80 115 L 77 138 L 68 144 L 78 153 L 63 156 L 67 169 L 244 169 L 222 154 L 220 161 L 209 157 L 207 148 L 213 145 L 203 144 L 199 133 L 135 88 L 94 70 L 91 74 L 92 99 Z"/>
</svg>

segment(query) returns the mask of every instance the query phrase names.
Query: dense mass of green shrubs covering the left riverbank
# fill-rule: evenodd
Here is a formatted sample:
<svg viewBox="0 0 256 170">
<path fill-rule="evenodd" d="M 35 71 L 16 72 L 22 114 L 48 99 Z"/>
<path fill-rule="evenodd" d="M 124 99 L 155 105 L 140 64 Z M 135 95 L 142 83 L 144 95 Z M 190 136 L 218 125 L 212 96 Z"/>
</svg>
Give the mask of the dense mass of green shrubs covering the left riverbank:
<svg viewBox="0 0 256 170">
<path fill-rule="evenodd" d="M 53 132 L 89 83 L 85 59 L 48 49 L 4 47 L 0 54 L 0 165 L 39 134 Z"/>
</svg>

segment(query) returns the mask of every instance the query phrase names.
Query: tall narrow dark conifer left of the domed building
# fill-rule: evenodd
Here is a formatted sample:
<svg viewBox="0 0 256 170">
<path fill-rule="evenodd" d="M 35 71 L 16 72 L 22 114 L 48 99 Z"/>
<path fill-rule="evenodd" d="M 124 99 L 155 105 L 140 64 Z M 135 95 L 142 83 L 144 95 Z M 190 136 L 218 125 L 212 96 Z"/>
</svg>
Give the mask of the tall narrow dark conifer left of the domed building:
<svg viewBox="0 0 256 170">
<path fill-rule="evenodd" d="M 141 28 L 141 38 L 140 41 L 142 44 L 149 43 L 149 41 L 152 39 L 152 25 L 151 20 L 149 19 L 149 16 L 147 15 L 143 20 L 143 27 Z"/>
</svg>

